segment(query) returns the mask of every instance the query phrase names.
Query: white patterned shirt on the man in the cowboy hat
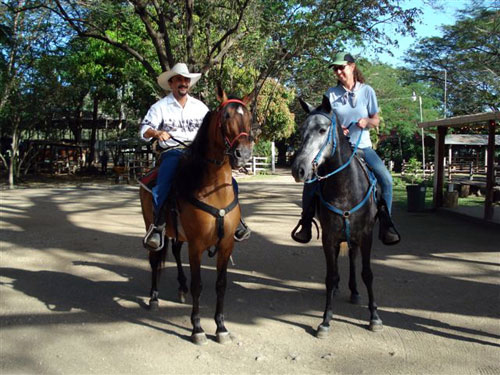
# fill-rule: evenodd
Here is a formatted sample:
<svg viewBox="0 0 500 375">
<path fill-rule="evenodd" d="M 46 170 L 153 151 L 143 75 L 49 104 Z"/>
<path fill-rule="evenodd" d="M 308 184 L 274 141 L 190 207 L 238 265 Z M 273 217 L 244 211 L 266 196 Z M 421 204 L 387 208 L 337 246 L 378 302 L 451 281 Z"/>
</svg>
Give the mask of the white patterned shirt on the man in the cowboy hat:
<svg viewBox="0 0 500 375">
<path fill-rule="evenodd" d="M 190 142 L 196 136 L 207 112 L 208 107 L 200 100 L 188 95 L 183 108 L 170 93 L 149 108 L 141 123 L 140 136 L 143 140 L 150 141 L 151 138 L 145 138 L 144 133 L 153 128 L 165 130 L 181 142 Z M 160 146 L 168 148 L 178 146 L 178 143 L 169 139 L 166 142 L 160 142 Z"/>
</svg>

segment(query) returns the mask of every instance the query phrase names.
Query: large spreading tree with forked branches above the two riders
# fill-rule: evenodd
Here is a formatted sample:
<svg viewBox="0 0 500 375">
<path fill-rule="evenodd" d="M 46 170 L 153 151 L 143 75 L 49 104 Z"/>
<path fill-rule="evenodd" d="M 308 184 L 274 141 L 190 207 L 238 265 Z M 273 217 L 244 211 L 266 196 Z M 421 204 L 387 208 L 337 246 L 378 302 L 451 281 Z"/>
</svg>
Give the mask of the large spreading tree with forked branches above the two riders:
<svg viewBox="0 0 500 375">
<path fill-rule="evenodd" d="M 258 72 L 253 82 L 256 94 L 269 77 L 286 84 L 304 78 L 295 73 L 310 65 L 310 60 L 323 61 L 315 70 L 324 69 L 325 56 L 348 41 L 394 43 L 378 26 L 394 23 L 398 33 L 412 33 L 419 14 L 416 8 L 404 10 L 395 0 L 215 0 L 196 4 L 193 0 L 53 0 L 52 4 L 50 9 L 79 36 L 127 52 L 143 65 L 153 82 L 177 61 L 186 61 L 205 75 L 233 61 Z M 300 81 L 296 83 L 302 87 Z M 203 82 L 199 89 L 203 91 Z"/>
</svg>

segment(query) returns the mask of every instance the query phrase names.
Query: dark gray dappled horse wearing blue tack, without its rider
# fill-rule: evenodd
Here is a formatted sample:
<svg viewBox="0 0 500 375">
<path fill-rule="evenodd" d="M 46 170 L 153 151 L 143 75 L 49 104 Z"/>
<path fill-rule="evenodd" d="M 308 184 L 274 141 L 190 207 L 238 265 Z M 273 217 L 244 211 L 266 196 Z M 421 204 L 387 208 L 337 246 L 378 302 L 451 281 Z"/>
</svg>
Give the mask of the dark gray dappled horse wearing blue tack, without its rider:
<svg viewBox="0 0 500 375">
<path fill-rule="evenodd" d="M 337 258 L 340 244 L 349 246 L 351 302 L 359 303 L 355 278 L 355 259 L 362 257 L 362 278 L 368 290 L 370 310 L 369 329 L 383 328 L 373 297 L 373 274 L 370 266 L 373 226 L 377 203 L 374 189 L 376 180 L 357 157 L 353 157 L 351 144 L 344 136 L 328 98 L 314 108 L 300 100 L 308 113 L 302 126 L 302 145 L 292 165 L 297 182 L 313 183 L 317 188 L 317 216 L 322 228 L 323 251 L 326 258 L 326 307 L 317 337 L 326 337 L 333 315 L 333 296 L 338 289 Z M 316 199 L 314 200 L 316 202 Z"/>
</svg>

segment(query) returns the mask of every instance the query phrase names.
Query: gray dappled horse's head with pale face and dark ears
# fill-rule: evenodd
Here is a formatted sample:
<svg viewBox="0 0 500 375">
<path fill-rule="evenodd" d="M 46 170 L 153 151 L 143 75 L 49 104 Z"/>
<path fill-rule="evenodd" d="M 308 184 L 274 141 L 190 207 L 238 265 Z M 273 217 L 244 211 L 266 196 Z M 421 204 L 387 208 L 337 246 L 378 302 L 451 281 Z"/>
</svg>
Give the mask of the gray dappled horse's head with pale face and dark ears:
<svg viewBox="0 0 500 375">
<path fill-rule="evenodd" d="M 299 101 L 308 116 L 301 129 L 302 144 L 292 165 L 292 175 L 297 182 L 313 177 L 313 162 L 316 166 L 320 165 L 328 156 L 327 139 L 330 131 L 336 131 L 335 128 L 330 129 L 335 118 L 332 117 L 334 116 L 331 113 L 332 107 L 326 96 L 323 97 L 323 102 L 318 108 L 312 107 L 302 99 Z"/>
</svg>

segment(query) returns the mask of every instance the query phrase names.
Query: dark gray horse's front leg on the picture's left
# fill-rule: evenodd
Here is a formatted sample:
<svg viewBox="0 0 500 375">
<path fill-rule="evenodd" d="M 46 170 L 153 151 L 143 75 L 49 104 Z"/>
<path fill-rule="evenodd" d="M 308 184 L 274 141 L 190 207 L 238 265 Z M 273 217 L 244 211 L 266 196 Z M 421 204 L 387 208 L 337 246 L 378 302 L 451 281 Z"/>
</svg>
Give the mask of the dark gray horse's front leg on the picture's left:
<svg viewBox="0 0 500 375">
<path fill-rule="evenodd" d="M 337 257 L 339 255 L 340 243 L 327 239 L 329 234 L 323 232 L 323 251 L 326 259 L 326 306 L 323 314 L 323 322 L 318 326 L 316 337 L 325 338 L 330 332 L 330 321 L 333 317 L 333 296 L 339 286 L 339 272 Z"/>
</svg>

